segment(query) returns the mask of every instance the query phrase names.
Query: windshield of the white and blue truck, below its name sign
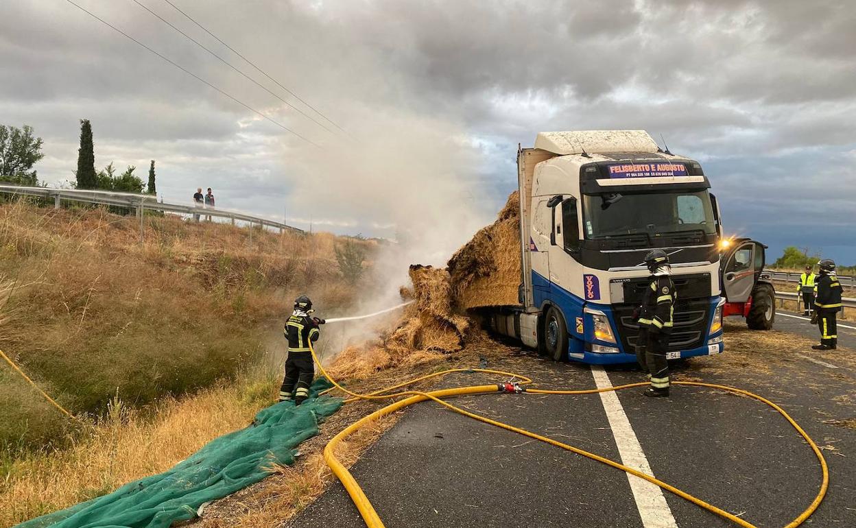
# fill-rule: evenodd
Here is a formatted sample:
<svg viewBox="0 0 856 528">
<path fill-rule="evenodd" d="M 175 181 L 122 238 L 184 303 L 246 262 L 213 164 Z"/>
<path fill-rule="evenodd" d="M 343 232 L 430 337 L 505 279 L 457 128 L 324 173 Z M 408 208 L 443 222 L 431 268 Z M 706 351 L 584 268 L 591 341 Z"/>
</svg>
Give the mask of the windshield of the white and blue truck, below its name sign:
<svg viewBox="0 0 856 528">
<path fill-rule="evenodd" d="M 713 207 L 706 190 L 586 194 L 583 207 L 587 239 L 641 233 L 716 233 Z"/>
</svg>

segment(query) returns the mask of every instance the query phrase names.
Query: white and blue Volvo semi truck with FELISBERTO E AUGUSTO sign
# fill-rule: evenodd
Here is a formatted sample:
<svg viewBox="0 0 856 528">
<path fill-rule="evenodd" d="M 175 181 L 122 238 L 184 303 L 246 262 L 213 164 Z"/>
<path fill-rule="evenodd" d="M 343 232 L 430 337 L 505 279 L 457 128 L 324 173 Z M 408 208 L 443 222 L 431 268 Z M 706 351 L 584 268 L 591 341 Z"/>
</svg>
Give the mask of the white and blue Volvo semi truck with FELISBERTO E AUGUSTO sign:
<svg viewBox="0 0 856 528">
<path fill-rule="evenodd" d="M 722 353 L 716 197 L 701 164 L 641 130 L 538 133 L 517 154 L 520 305 L 490 328 L 556 360 L 636 360 L 645 254 L 669 254 L 677 291 L 669 359 Z"/>
</svg>

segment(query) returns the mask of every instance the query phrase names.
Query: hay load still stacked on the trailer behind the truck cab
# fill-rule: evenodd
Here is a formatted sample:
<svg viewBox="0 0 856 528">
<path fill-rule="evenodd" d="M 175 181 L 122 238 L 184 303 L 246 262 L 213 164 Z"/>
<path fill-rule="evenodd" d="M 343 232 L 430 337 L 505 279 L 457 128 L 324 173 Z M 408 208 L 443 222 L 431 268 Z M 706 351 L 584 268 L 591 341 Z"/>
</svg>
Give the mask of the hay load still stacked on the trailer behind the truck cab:
<svg viewBox="0 0 856 528">
<path fill-rule="evenodd" d="M 482 228 L 447 264 L 455 306 L 469 310 L 483 306 L 519 304 L 520 197 L 517 191 L 496 222 Z"/>
</svg>

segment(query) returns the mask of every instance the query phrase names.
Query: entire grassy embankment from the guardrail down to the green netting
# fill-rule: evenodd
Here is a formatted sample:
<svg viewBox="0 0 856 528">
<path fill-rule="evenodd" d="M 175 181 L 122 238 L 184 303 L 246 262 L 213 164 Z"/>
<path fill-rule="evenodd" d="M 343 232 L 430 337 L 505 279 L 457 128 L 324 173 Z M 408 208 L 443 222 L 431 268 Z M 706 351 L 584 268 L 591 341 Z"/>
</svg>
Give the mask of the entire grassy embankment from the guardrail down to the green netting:
<svg viewBox="0 0 856 528">
<path fill-rule="evenodd" d="M 265 356 L 294 294 L 326 306 L 355 295 L 333 235 L 146 222 L 140 245 L 130 218 L 0 206 L 0 276 L 15 285 L 0 347 L 83 418 L 0 366 L 0 525 L 168 469 L 246 425 L 273 399 Z"/>
</svg>

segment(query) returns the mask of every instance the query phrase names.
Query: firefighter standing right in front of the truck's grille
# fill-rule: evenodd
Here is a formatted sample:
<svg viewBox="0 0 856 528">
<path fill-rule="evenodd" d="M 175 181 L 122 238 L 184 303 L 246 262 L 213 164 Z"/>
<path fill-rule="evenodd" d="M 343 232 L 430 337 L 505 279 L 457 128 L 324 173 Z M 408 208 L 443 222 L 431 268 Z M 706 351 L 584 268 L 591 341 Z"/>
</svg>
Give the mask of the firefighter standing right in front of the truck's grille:
<svg viewBox="0 0 856 528">
<path fill-rule="evenodd" d="M 669 395 L 666 352 L 669 349 L 669 334 L 674 326 L 672 317 L 677 294 L 666 252 L 662 249 L 649 252 L 645 256 L 645 265 L 651 271 L 651 277 L 642 297 L 642 306 L 636 312 L 639 321 L 636 359 L 651 380 L 651 387 L 645 389 L 643 394 L 664 397 Z"/>
</svg>

